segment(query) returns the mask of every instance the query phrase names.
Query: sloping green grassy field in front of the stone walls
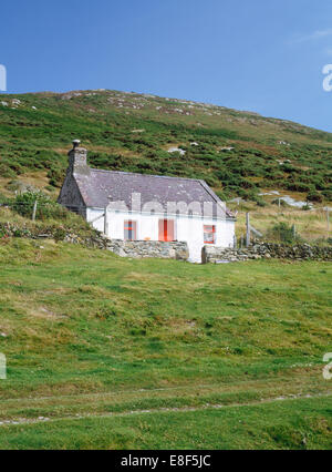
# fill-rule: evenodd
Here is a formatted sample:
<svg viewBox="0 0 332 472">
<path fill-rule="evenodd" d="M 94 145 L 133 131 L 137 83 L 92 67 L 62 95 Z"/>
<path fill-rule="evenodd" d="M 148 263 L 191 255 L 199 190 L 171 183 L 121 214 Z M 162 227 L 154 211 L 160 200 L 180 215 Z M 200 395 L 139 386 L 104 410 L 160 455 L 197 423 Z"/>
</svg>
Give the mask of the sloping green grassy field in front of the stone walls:
<svg viewBox="0 0 332 472">
<path fill-rule="evenodd" d="M 328 263 L 0 242 L 0 448 L 331 449 Z"/>
</svg>

